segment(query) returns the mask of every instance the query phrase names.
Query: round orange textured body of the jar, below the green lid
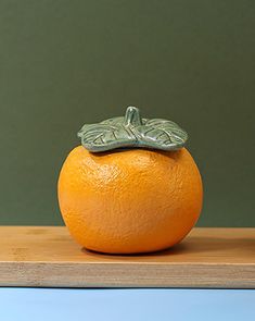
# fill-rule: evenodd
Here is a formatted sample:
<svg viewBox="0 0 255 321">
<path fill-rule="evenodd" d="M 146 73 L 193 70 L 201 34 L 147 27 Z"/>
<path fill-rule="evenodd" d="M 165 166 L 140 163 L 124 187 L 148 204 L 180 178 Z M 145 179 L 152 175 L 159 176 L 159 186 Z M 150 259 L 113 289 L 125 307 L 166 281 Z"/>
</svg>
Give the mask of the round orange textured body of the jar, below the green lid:
<svg viewBox="0 0 255 321">
<path fill-rule="evenodd" d="M 186 148 L 92 153 L 79 146 L 63 164 L 58 194 L 65 224 L 81 246 L 136 254 L 179 243 L 197 221 L 203 188 Z"/>
</svg>

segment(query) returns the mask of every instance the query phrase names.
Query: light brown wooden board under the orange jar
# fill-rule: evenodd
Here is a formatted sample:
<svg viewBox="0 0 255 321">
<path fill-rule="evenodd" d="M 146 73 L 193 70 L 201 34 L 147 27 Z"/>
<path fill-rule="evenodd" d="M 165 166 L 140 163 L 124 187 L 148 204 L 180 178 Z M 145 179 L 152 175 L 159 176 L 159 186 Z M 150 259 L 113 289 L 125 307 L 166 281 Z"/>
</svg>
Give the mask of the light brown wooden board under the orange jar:
<svg viewBox="0 0 255 321">
<path fill-rule="evenodd" d="M 0 285 L 255 288 L 255 229 L 193 229 L 176 247 L 111 256 L 62 226 L 0 226 Z"/>
</svg>

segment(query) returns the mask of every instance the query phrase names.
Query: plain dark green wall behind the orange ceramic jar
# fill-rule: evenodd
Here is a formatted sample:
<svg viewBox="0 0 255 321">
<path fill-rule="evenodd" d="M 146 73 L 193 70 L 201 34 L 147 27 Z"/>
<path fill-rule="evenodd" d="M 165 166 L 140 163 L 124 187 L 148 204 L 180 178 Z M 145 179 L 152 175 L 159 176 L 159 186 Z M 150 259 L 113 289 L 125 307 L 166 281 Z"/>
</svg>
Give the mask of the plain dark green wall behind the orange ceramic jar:
<svg viewBox="0 0 255 321">
<path fill-rule="evenodd" d="M 0 0 L 0 224 L 61 224 L 82 123 L 176 121 L 204 180 L 200 225 L 255 225 L 255 2 Z"/>
</svg>

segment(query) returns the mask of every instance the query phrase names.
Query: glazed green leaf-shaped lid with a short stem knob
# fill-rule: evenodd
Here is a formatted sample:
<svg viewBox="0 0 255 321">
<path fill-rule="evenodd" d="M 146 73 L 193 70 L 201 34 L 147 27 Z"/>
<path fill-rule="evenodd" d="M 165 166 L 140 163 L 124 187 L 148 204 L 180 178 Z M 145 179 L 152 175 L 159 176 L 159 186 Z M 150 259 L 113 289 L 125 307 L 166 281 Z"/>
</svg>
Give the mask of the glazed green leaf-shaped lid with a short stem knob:
<svg viewBox="0 0 255 321">
<path fill-rule="evenodd" d="M 178 150 L 184 146 L 188 134 L 171 121 L 142 119 L 138 108 L 128 107 L 125 116 L 85 124 L 78 137 L 92 152 L 116 148 Z"/>
</svg>

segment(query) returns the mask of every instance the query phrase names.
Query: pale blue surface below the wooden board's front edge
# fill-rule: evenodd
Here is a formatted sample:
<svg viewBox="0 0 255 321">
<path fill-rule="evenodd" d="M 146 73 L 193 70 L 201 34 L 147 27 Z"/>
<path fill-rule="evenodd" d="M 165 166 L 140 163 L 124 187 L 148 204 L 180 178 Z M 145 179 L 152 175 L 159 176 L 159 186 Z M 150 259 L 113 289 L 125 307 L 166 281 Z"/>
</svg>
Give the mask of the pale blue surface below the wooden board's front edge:
<svg viewBox="0 0 255 321">
<path fill-rule="evenodd" d="M 255 320 L 252 289 L 0 288 L 1 321 Z"/>
</svg>

